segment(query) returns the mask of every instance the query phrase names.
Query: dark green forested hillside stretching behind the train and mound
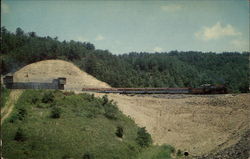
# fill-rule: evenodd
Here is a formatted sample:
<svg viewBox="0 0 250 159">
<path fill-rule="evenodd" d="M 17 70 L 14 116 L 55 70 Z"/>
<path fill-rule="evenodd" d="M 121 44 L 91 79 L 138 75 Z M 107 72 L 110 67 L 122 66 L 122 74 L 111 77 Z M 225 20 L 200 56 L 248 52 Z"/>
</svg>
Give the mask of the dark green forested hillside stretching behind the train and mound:
<svg viewBox="0 0 250 159">
<path fill-rule="evenodd" d="M 128 53 L 113 55 L 88 42 L 39 37 L 1 28 L 1 74 L 45 59 L 71 61 L 113 87 L 198 87 L 226 84 L 232 92 L 247 92 L 249 52 Z"/>
</svg>

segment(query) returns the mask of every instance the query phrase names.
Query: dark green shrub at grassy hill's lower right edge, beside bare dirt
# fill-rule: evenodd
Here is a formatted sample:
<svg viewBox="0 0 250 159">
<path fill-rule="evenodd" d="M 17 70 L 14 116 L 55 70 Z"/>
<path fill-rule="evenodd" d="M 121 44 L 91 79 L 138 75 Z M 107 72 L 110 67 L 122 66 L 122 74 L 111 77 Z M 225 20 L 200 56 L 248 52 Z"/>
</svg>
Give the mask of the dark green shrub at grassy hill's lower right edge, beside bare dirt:
<svg viewBox="0 0 250 159">
<path fill-rule="evenodd" d="M 149 145 L 152 144 L 151 135 L 147 132 L 145 127 L 139 128 L 139 130 L 137 132 L 136 142 L 141 147 L 148 147 Z"/>
</svg>

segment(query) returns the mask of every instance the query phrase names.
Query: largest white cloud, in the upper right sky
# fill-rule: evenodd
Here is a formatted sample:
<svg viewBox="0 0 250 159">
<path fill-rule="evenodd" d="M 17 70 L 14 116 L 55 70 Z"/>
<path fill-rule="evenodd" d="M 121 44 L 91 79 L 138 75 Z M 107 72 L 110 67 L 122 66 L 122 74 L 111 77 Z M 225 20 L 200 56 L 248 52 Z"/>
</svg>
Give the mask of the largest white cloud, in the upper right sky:
<svg viewBox="0 0 250 159">
<path fill-rule="evenodd" d="M 196 38 L 202 40 L 212 40 L 237 35 L 241 35 L 241 33 L 236 31 L 232 25 L 222 26 L 220 22 L 217 22 L 211 27 L 203 27 L 201 31 L 195 33 Z"/>
</svg>

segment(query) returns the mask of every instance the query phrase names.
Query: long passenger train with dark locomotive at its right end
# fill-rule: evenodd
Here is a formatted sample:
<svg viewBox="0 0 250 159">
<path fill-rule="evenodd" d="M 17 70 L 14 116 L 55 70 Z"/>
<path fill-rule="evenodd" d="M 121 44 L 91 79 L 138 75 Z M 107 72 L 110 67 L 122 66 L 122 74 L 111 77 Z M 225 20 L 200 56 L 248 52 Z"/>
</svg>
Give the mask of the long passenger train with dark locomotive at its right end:
<svg viewBox="0 0 250 159">
<path fill-rule="evenodd" d="M 226 94 L 225 85 L 204 84 L 198 88 L 83 88 L 84 92 L 120 94 Z"/>
</svg>

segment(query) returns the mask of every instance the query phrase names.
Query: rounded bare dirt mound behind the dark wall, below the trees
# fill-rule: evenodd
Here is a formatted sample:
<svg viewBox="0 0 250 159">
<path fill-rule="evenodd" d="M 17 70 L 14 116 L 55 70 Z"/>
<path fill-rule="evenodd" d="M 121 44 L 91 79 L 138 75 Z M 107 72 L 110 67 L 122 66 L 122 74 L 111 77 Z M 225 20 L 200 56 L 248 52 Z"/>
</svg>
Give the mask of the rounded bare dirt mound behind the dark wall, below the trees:
<svg viewBox="0 0 250 159">
<path fill-rule="evenodd" d="M 66 77 L 65 89 L 81 90 L 83 87 L 109 88 L 110 86 L 83 72 L 70 62 L 45 60 L 29 64 L 14 73 L 14 82 L 52 82 L 58 77 Z"/>
</svg>

